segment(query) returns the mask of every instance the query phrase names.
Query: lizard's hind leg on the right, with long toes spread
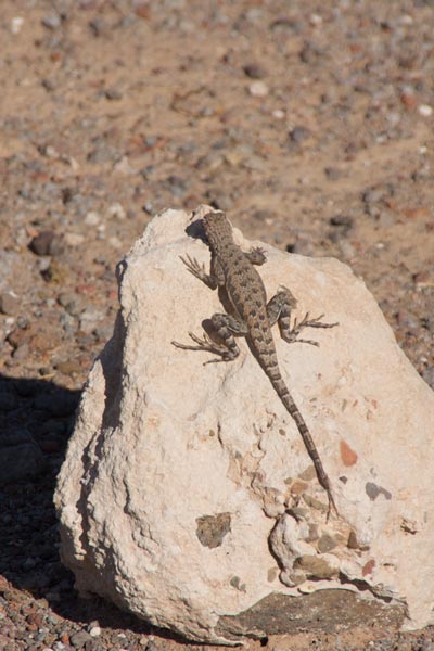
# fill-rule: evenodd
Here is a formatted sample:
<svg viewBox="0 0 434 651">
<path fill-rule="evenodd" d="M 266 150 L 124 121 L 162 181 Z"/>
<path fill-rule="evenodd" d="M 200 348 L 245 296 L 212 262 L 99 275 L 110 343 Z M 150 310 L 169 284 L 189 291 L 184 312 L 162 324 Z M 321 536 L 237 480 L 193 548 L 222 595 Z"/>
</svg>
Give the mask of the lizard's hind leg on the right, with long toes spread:
<svg viewBox="0 0 434 651">
<path fill-rule="evenodd" d="M 267 314 L 270 324 L 279 322 L 281 337 L 289 344 L 298 342 L 319 346 L 318 342 L 312 340 L 299 339 L 298 335 L 304 328 L 334 328 L 339 323 L 324 323 L 321 319 L 324 315 L 320 315 L 314 319 L 309 319 L 309 312 L 306 312 L 302 321 L 294 319 L 294 324 L 291 327 L 291 312 L 296 307 L 297 301 L 288 288 L 282 288 L 267 305 Z"/>
</svg>

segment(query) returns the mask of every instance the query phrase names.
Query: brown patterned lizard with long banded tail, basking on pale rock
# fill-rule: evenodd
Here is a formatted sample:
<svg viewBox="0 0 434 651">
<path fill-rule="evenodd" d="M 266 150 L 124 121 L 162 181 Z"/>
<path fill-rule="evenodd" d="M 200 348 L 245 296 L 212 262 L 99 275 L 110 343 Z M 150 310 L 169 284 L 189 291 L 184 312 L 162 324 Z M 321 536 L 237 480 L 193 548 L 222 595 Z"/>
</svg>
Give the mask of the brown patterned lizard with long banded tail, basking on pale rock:
<svg viewBox="0 0 434 651">
<path fill-rule="evenodd" d="M 206 213 L 202 217 L 206 242 L 209 246 L 210 273 L 204 265 L 188 254 L 180 256 L 187 269 L 209 289 L 225 290 L 229 298 L 231 312 L 214 314 L 210 318 L 213 334 L 204 332 L 199 337 L 189 332 L 190 339 L 196 345 L 181 344 L 173 341 L 173 345 L 184 350 L 206 350 L 218 355 L 204 363 L 216 361 L 232 361 L 240 354 L 235 336 L 246 337 L 250 347 L 270 380 L 277 395 L 283 403 L 286 411 L 294 420 L 303 438 L 306 450 L 314 462 L 318 481 L 327 492 L 329 500 L 328 519 L 333 509 L 339 514 L 333 499 L 329 476 L 322 465 L 317 447 L 309 429 L 298 410 L 290 391 L 282 378 L 271 328 L 278 322 L 282 339 L 288 342 L 302 342 L 318 346 L 318 342 L 298 339 L 304 328 L 334 328 L 339 323 L 324 323 L 320 315 L 310 319 L 309 312 L 299 322 L 294 321 L 291 328 L 291 312 L 296 307 L 297 301 L 288 288 L 281 286 L 280 291 L 267 303 L 267 294 L 263 279 L 254 265 L 263 265 L 266 255 L 263 248 L 251 248 L 243 252 L 233 241 L 232 227 L 222 210 Z"/>
</svg>

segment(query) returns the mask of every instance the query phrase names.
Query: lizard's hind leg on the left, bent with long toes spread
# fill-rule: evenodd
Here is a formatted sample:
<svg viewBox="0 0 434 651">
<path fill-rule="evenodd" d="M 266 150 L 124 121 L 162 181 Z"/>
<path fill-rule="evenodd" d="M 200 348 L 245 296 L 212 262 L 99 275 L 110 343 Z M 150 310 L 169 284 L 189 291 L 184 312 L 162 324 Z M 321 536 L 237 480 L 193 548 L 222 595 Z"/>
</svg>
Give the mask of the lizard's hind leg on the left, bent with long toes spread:
<svg viewBox="0 0 434 651">
<path fill-rule="evenodd" d="M 206 350 L 219 355 L 214 359 L 208 359 L 205 363 L 213 363 L 217 361 L 232 361 L 240 355 L 240 348 L 237 345 L 237 336 L 245 336 L 247 334 L 246 326 L 235 317 L 226 314 L 215 314 L 210 318 L 212 322 L 212 334 L 204 332 L 203 337 L 189 332 L 190 339 L 193 340 L 196 346 L 188 344 L 180 344 L 179 342 L 171 342 L 177 348 L 183 350 Z"/>
</svg>

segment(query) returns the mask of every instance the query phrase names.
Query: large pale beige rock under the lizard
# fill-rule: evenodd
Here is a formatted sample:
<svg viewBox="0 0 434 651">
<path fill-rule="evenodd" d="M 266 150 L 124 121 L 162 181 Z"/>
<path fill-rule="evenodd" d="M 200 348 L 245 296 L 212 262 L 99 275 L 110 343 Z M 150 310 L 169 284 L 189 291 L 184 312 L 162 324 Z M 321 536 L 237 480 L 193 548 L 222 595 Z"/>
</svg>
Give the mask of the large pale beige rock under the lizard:
<svg viewBox="0 0 434 651">
<path fill-rule="evenodd" d="M 166 210 L 119 266 L 114 335 L 55 494 L 77 588 L 209 642 L 360 618 L 434 623 L 432 391 L 348 267 L 260 244 L 269 295 L 282 283 L 298 318 L 340 322 L 308 333 L 319 348 L 275 336 L 333 486 L 341 518 L 328 522 L 296 426 L 246 344 L 235 361 L 203 366 L 206 353 L 170 343 L 221 311 L 179 259 L 209 264 L 188 224 Z"/>
</svg>

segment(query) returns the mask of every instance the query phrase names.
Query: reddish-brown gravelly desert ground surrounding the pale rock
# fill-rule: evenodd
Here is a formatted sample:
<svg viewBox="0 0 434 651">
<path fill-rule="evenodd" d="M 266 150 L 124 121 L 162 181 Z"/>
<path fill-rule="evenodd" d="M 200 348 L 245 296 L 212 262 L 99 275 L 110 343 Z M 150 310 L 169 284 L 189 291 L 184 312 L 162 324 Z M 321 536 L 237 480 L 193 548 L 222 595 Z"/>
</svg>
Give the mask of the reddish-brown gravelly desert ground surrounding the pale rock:
<svg viewBox="0 0 434 651">
<path fill-rule="evenodd" d="M 434 387 L 433 29 L 432 0 L 2 0 L 0 649 L 200 649 L 79 599 L 52 506 L 116 263 L 158 210 L 349 264 Z M 263 646 L 429 651 L 434 628 Z"/>
</svg>

